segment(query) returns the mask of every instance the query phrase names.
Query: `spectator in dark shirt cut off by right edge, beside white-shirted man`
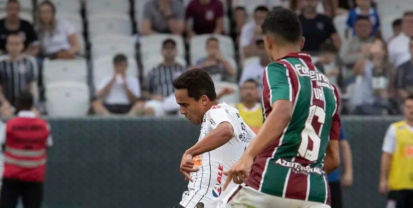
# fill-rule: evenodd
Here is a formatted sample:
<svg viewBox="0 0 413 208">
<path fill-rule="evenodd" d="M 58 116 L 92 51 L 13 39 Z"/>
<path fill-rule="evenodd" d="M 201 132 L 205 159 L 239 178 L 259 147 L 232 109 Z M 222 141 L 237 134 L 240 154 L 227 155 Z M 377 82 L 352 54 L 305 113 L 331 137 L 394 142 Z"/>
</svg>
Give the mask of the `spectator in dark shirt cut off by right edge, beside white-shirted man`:
<svg viewBox="0 0 413 208">
<path fill-rule="evenodd" d="M 409 48 L 410 60 L 397 67 L 394 80 L 397 95 L 403 100 L 413 94 L 413 37 L 410 38 Z"/>
</svg>

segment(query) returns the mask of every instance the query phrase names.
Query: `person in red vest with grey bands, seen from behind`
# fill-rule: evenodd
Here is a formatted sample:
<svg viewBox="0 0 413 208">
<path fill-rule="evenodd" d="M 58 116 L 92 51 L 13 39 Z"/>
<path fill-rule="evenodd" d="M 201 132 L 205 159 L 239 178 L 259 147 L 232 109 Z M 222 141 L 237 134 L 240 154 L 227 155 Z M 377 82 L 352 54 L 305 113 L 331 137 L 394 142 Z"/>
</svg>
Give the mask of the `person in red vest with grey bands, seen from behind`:
<svg viewBox="0 0 413 208">
<path fill-rule="evenodd" d="M 4 149 L 0 207 L 15 208 L 20 196 L 25 208 L 40 208 L 43 201 L 46 148 L 53 140 L 50 125 L 36 117 L 32 106 L 32 94 L 20 93 L 18 116 L 7 121 L 0 132 Z"/>
</svg>

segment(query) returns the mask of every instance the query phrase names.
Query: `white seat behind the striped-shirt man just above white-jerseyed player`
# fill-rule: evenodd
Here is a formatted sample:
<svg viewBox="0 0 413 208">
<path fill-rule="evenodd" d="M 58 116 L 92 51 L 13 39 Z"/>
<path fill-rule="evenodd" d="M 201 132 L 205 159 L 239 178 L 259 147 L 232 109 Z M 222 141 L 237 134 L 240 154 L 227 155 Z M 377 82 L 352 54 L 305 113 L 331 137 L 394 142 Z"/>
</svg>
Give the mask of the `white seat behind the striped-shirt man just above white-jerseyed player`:
<svg viewBox="0 0 413 208">
<path fill-rule="evenodd" d="M 160 54 L 162 50 L 162 43 L 166 39 L 173 39 L 176 42 L 178 50 L 178 57 L 185 57 L 184 40 L 181 36 L 169 34 L 155 34 L 141 37 L 141 56 L 142 59 L 148 59 L 150 56 Z"/>
</svg>

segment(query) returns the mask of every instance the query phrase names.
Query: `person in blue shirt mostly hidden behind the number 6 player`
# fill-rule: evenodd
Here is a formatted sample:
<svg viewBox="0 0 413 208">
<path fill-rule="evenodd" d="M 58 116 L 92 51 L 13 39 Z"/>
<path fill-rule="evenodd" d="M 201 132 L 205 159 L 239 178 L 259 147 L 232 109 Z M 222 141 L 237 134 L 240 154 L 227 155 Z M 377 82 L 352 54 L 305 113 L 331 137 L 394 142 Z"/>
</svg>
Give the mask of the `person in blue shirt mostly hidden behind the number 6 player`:
<svg viewBox="0 0 413 208">
<path fill-rule="evenodd" d="M 334 172 L 327 175 L 328 184 L 331 193 L 331 208 L 341 208 L 341 185 L 350 186 L 353 183 L 353 166 L 351 161 L 350 144 L 346 140 L 344 128 L 341 125 L 339 146 L 344 161 L 344 172 L 340 178 L 340 171 L 336 169 Z"/>
</svg>

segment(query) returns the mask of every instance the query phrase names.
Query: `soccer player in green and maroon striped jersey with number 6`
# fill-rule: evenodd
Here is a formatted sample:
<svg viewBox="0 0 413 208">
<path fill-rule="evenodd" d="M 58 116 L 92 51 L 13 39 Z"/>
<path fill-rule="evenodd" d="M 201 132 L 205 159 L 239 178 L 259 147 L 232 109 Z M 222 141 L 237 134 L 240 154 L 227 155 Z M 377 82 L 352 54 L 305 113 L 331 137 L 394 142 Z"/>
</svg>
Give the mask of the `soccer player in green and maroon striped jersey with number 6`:
<svg viewBox="0 0 413 208">
<path fill-rule="evenodd" d="M 326 172 L 339 165 L 337 89 L 311 56 L 300 52 L 304 38 L 292 11 L 274 9 L 262 30 L 272 61 L 263 76 L 265 121 L 237 163 L 224 171 L 224 189 L 231 179 L 241 185 L 218 207 L 330 207 Z"/>
</svg>

